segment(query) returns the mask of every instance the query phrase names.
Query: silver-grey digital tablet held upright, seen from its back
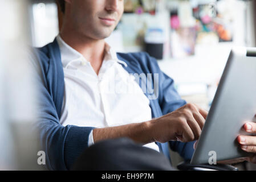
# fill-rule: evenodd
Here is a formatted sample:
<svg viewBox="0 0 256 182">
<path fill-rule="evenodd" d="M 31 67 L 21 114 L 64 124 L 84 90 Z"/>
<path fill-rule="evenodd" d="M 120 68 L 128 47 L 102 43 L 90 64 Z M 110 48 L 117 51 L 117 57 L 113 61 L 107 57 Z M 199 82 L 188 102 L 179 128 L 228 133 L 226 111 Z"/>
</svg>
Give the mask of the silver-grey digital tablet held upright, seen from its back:
<svg viewBox="0 0 256 182">
<path fill-rule="evenodd" d="M 233 48 L 194 151 L 191 164 L 244 158 L 237 142 L 246 122 L 255 122 L 256 48 Z M 210 159 L 210 160 L 209 160 Z"/>
</svg>

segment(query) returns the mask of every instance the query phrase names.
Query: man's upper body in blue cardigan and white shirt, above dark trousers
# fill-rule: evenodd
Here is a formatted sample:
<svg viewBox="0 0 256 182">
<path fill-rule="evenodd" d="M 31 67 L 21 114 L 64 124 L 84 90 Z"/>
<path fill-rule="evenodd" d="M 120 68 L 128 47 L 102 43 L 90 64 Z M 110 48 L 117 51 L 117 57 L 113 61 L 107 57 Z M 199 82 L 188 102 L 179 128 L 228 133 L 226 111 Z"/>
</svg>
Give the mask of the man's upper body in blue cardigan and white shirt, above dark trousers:
<svg viewBox="0 0 256 182">
<path fill-rule="evenodd" d="M 70 169 L 88 146 L 121 137 L 166 156 L 169 142 L 189 160 L 208 113 L 181 100 L 155 59 L 116 53 L 104 42 L 121 19 L 123 0 L 59 3 L 64 13 L 60 34 L 36 53 L 38 129 L 48 168 Z M 131 74 L 142 76 L 136 82 Z M 148 85 L 155 86 L 153 97 Z"/>
</svg>

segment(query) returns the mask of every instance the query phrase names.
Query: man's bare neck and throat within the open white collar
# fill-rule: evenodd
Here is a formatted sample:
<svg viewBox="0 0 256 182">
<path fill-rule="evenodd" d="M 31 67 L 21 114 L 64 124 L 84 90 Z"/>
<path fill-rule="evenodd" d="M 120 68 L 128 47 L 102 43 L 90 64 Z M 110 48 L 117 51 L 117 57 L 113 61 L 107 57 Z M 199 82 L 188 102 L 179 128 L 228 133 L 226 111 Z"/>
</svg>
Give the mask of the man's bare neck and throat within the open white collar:
<svg viewBox="0 0 256 182">
<path fill-rule="evenodd" d="M 64 42 L 80 52 L 86 60 L 90 61 L 92 68 L 94 68 L 95 73 L 98 75 L 105 55 L 104 39 L 93 40 L 84 36 L 78 36 L 75 32 L 65 32 L 64 30 L 60 32 L 60 36 Z"/>
</svg>

